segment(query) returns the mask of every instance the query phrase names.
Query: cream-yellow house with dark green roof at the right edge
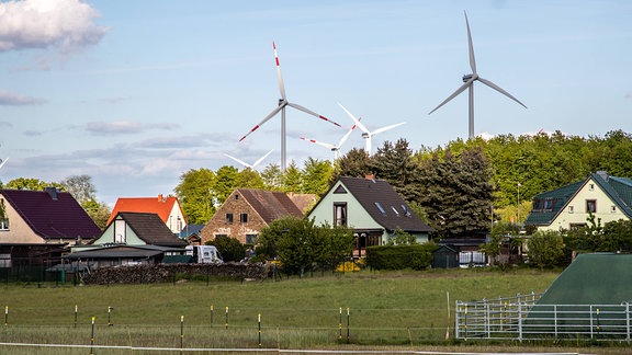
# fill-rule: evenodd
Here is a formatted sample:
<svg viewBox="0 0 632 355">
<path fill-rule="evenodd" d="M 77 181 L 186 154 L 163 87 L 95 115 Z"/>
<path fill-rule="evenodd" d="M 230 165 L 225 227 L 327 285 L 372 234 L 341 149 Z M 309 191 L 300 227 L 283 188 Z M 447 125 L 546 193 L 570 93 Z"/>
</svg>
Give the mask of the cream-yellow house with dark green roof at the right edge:
<svg viewBox="0 0 632 355">
<path fill-rule="evenodd" d="M 571 230 L 586 226 L 589 214 L 602 225 L 629 220 L 632 218 L 630 206 L 632 180 L 598 171 L 583 181 L 535 195 L 524 225 L 538 230 Z"/>
</svg>

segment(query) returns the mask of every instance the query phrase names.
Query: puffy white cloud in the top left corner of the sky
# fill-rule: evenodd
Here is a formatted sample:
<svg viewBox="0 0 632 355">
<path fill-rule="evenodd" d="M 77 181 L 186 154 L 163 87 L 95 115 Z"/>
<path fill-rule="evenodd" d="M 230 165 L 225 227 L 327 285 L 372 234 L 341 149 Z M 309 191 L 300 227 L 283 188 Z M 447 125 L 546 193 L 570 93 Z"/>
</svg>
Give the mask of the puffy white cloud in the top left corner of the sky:
<svg viewBox="0 0 632 355">
<path fill-rule="evenodd" d="M 71 53 L 95 45 L 108 32 L 94 24 L 98 16 L 80 0 L 0 2 L 0 51 L 57 48 Z"/>
</svg>

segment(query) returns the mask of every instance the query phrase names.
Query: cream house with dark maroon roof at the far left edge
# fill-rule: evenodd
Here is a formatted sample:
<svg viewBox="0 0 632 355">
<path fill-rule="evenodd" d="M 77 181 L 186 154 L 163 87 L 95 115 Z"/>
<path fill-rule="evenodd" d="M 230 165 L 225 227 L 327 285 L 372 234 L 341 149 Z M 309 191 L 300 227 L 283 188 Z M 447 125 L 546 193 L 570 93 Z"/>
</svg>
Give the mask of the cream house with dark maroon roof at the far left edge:
<svg viewBox="0 0 632 355">
<path fill-rule="evenodd" d="M 101 236 L 101 229 L 67 192 L 0 190 L 0 243 L 75 244 Z"/>
</svg>

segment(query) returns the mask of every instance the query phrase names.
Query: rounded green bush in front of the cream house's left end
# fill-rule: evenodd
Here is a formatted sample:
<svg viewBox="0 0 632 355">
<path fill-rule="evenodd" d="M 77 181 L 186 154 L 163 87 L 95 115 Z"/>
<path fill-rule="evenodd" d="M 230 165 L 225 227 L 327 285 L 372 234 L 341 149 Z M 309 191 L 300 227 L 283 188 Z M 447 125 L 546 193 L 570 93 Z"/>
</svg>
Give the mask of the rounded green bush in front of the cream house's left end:
<svg viewBox="0 0 632 355">
<path fill-rule="evenodd" d="M 540 268 L 561 265 L 564 261 L 564 241 L 558 231 L 537 231 L 527 241 L 529 261 Z"/>
</svg>

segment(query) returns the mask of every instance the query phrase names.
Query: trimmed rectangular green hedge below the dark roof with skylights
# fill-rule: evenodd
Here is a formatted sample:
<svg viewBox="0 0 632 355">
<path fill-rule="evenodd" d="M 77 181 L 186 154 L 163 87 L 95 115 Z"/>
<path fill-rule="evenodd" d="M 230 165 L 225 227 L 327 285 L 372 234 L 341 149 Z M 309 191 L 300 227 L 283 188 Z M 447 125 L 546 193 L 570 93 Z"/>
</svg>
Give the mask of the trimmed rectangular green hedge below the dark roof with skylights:
<svg viewBox="0 0 632 355">
<path fill-rule="evenodd" d="M 366 248 L 366 266 L 373 270 L 424 270 L 432 263 L 437 244 L 381 245 Z"/>
</svg>

